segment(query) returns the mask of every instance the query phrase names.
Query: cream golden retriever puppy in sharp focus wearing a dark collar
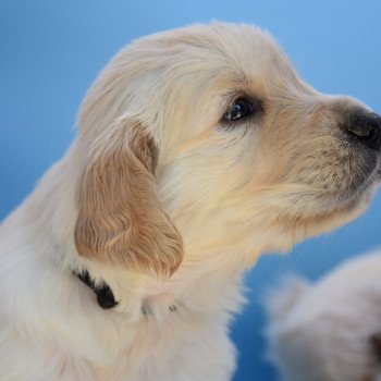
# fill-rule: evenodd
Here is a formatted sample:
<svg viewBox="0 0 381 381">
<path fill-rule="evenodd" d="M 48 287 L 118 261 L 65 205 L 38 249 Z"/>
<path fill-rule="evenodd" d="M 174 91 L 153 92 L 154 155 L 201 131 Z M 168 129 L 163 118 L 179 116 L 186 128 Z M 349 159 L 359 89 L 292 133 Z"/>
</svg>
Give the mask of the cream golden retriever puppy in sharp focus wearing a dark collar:
<svg viewBox="0 0 381 381">
<path fill-rule="evenodd" d="M 359 216 L 380 177 L 380 116 L 248 25 L 133 42 L 77 125 L 0 230 L 3 380 L 229 380 L 243 271 Z"/>
</svg>

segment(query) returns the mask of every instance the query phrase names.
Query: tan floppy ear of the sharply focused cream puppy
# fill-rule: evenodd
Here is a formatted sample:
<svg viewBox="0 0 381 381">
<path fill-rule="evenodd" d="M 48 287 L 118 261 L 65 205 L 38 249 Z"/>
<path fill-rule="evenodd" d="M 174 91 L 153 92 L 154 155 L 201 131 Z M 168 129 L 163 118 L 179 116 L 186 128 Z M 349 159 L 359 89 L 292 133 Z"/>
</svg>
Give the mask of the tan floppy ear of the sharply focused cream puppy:
<svg viewBox="0 0 381 381">
<path fill-rule="evenodd" d="M 75 245 L 82 256 L 170 276 L 183 259 L 183 244 L 159 200 L 156 147 L 138 124 L 122 124 L 86 164 Z"/>
</svg>

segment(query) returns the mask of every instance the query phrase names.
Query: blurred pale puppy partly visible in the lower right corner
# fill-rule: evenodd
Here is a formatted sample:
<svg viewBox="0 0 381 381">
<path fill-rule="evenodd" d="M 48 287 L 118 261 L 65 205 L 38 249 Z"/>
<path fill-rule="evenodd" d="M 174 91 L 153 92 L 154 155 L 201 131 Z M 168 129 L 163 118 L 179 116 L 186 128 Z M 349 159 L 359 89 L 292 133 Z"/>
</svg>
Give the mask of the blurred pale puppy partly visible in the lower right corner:
<svg viewBox="0 0 381 381">
<path fill-rule="evenodd" d="M 381 253 L 349 260 L 316 284 L 270 292 L 270 357 L 284 381 L 381 380 Z"/>
</svg>

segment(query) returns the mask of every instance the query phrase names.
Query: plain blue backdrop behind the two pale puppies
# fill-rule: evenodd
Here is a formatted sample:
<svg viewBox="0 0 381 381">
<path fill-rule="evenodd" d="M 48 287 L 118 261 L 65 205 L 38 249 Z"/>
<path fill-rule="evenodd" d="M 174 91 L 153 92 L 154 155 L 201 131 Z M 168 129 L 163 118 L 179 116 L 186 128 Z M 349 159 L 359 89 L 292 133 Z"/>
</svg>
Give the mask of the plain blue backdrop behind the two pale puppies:
<svg viewBox="0 0 381 381">
<path fill-rule="evenodd" d="M 86 89 L 132 39 L 194 22 L 255 23 L 276 37 L 312 86 L 381 111 L 380 16 L 378 0 L 0 0 L 0 219 L 63 155 Z M 378 246 L 380 208 L 378 195 L 357 221 L 290 256 L 262 257 L 247 273 L 250 303 L 232 327 L 239 349 L 234 381 L 276 380 L 261 333 L 265 290 L 290 271 L 317 279 Z"/>
</svg>

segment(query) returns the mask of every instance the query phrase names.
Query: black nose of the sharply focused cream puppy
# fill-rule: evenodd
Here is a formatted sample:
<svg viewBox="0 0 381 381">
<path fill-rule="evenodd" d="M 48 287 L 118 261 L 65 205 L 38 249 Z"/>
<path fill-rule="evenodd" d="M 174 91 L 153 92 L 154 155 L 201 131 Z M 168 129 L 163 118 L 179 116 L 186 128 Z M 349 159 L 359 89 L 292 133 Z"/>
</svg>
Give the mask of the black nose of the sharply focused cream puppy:
<svg viewBox="0 0 381 381">
<path fill-rule="evenodd" d="M 368 148 L 381 148 L 381 116 L 374 112 L 352 114 L 343 125 L 345 132 Z"/>
</svg>

